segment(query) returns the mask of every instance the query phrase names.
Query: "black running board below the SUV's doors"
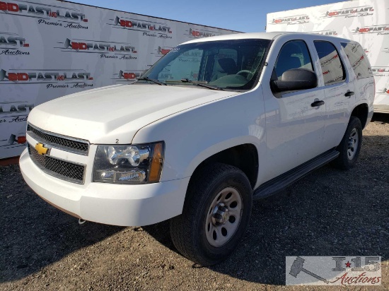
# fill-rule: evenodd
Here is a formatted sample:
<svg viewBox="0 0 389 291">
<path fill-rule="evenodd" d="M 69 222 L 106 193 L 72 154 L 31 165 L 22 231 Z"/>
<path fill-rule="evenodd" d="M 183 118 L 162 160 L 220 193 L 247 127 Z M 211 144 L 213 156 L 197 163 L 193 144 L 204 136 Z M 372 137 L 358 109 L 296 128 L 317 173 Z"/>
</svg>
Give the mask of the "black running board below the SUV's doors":
<svg viewBox="0 0 389 291">
<path fill-rule="evenodd" d="M 316 158 L 308 160 L 308 162 L 304 162 L 302 165 L 299 165 L 298 167 L 295 167 L 294 169 L 265 182 L 254 190 L 252 198 L 257 200 L 277 194 L 284 190 L 287 186 L 296 182 L 298 179 L 306 176 L 306 174 L 310 171 L 316 170 L 328 162 L 335 160 L 338 155 L 339 152 L 337 150 L 327 150 L 327 152 L 318 155 Z"/>
</svg>

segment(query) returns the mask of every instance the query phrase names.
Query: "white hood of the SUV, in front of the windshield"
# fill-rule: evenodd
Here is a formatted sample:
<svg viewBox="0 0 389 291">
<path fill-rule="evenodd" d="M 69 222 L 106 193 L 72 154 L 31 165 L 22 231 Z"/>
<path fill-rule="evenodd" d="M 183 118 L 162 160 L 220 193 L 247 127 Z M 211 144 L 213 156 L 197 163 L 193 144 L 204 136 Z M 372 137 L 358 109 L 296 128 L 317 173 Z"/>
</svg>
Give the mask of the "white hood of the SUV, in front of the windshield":
<svg viewBox="0 0 389 291">
<path fill-rule="evenodd" d="M 132 143 L 152 122 L 236 92 L 193 85 L 112 85 L 59 97 L 35 107 L 28 122 L 90 143 Z"/>
</svg>

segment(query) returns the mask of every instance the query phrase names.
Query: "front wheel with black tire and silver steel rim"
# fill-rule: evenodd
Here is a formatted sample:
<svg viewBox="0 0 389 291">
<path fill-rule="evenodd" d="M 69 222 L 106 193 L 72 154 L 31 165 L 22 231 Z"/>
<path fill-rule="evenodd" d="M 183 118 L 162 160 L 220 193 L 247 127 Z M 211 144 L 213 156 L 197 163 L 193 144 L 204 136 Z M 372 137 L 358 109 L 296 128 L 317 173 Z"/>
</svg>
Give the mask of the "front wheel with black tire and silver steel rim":
<svg viewBox="0 0 389 291">
<path fill-rule="evenodd" d="M 194 263 L 220 263 L 243 238 L 251 208 L 252 189 L 241 170 L 221 163 L 204 167 L 190 180 L 182 214 L 170 220 L 173 244 Z"/>
</svg>

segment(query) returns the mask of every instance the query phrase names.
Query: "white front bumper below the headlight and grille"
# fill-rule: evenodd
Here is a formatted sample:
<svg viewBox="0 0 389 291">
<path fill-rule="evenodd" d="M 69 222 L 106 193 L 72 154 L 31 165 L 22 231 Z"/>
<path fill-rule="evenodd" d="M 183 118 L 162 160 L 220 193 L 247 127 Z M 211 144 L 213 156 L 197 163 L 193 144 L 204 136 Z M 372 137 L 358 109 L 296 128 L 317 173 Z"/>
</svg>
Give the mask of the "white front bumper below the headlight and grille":
<svg viewBox="0 0 389 291">
<path fill-rule="evenodd" d="M 42 172 L 27 149 L 20 165 L 25 182 L 45 201 L 83 220 L 108 225 L 151 225 L 180 215 L 190 179 L 141 185 L 78 185 Z"/>
</svg>

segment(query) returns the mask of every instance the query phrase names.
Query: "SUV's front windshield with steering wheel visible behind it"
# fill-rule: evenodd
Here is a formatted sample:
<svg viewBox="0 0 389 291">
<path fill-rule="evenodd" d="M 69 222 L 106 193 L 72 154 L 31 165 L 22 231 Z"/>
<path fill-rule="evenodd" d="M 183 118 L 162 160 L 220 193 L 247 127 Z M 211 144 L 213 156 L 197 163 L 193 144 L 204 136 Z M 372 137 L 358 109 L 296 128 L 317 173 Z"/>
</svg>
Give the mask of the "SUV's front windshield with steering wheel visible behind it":
<svg viewBox="0 0 389 291">
<path fill-rule="evenodd" d="M 269 44 L 270 40 L 182 44 L 157 61 L 140 79 L 217 90 L 250 90 L 260 74 Z"/>
</svg>

